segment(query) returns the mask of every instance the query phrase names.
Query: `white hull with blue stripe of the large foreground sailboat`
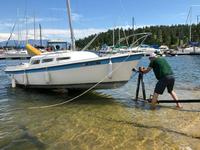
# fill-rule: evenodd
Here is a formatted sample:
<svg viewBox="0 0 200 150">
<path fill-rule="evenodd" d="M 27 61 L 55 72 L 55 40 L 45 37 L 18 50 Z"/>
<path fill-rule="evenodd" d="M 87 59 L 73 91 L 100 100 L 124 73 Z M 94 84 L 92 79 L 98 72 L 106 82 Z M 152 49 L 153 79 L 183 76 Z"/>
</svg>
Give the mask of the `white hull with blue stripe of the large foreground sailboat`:
<svg viewBox="0 0 200 150">
<path fill-rule="evenodd" d="M 127 57 L 130 59 L 123 62 Z M 97 83 L 96 89 L 117 88 L 130 79 L 142 54 L 127 57 L 112 58 L 112 63 L 107 58 L 7 73 L 12 75 L 17 85 L 29 88 L 86 89 Z"/>
</svg>

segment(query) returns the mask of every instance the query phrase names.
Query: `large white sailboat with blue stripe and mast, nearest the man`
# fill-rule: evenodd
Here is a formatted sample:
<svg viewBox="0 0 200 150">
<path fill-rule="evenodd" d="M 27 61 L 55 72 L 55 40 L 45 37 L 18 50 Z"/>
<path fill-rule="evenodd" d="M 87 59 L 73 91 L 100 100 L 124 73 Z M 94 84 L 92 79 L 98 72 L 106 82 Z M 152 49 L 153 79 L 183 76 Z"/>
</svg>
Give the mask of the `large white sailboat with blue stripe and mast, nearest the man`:
<svg viewBox="0 0 200 150">
<path fill-rule="evenodd" d="M 26 88 L 94 89 L 117 88 L 131 78 L 143 53 L 126 53 L 100 57 L 93 52 L 76 51 L 71 22 L 70 1 L 67 0 L 71 32 L 71 50 L 40 53 L 29 63 L 9 66 L 12 86 Z"/>
</svg>

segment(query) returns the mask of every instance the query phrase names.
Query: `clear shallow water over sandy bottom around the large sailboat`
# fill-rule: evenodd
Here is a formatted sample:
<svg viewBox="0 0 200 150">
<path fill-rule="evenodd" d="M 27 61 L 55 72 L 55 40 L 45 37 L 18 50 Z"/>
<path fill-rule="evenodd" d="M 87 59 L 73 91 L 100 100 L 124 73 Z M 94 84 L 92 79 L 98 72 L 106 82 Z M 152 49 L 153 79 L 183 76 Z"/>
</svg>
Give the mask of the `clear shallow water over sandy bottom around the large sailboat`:
<svg viewBox="0 0 200 150">
<path fill-rule="evenodd" d="M 166 58 L 176 76 L 180 99 L 200 99 L 200 57 Z M 0 61 L 5 65 L 20 61 Z M 147 66 L 143 58 L 139 66 Z M 10 88 L 0 71 L 0 149 L 199 149 L 200 104 L 149 104 L 134 102 L 137 74 L 122 88 L 98 90 L 52 108 L 33 109 L 64 102 L 81 92 Z M 149 96 L 156 83 L 144 76 Z M 171 99 L 165 92 L 160 99 Z M 15 110 L 22 108 L 22 110 Z"/>
</svg>

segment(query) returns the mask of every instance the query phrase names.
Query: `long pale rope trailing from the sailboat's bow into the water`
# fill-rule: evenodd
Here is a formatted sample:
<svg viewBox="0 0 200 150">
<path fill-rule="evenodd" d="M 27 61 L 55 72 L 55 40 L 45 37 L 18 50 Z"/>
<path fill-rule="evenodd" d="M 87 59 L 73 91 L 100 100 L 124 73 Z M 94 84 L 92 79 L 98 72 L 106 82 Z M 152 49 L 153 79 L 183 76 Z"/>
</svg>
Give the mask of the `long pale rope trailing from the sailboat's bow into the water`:
<svg viewBox="0 0 200 150">
<path fill-rule="evenodd" d="M 120 65 L 115 68 L 111 73 L 114 73 L 116 72 L 121 66 L 122 64 L 130 57 L 130 53 L 129 55 L 120 63 Z M 85 95 L 86 93 L 88 93 L 89 91 L 91 91 L 92 89 L 94 89 L 96 86 L 98 86 L 101 82 L 103 82 L 106 78 L 108 78 L 110 73 L 108 73 L 104 78 L 102 78 L 98 83 L 96 83 L 95 85 L 93 85 L 92 87 L 90 87 L 89 89 L 87 89 L 86 91 L 84 91 L 83 93 L 79 94 L 78 96 L 74 97 L 74 98 L 71 98 L 67 101 L 64 101 L 64 102 L 61 102 L 61 103 L 57 103 L 57 104 L 52 104 L 52 105 L 46 105 L 46 106 L 39 106 L 39 107 L 28 107 L 28 108 L 18 108 L 18 109 L 13 109 L 13 110 L 10 110 L 10 111 L 17 111 L 17 110 L 25 110 L 25 109 L 28 109 L 28 110 L 33 110 L 33 109 L 45 109 L 45 108 L 51 108 L 51 107 L 56 107 L 56 106 L 60 106 L 60 105 L 63 105 L 63 104 L 66 104 L 66 103 L 69 103 L 71 101 L 74 101 L 76 99 L 78 99 L 79 97 Z"/>
</svg>

